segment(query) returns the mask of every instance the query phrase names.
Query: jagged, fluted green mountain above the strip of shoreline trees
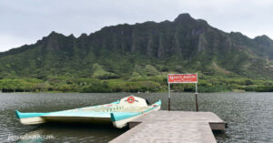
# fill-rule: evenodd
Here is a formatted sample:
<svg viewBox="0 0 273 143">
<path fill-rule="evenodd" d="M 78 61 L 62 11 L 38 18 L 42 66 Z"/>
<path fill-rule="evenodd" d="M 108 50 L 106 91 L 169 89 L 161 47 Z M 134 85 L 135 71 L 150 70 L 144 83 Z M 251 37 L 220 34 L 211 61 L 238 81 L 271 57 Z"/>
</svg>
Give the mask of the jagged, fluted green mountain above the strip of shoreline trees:
<svg viewBox="0 0 273 143">
<path fill-rule="evenodd" d="M 77 38 L 52 32 L 33 45 L 0 53 L 0 78 L 127 81 L 191 72 L 271 80 L 273 41 L 226 33 L 181 14 L 174 21 L 106 26 Z"/>
</svg>

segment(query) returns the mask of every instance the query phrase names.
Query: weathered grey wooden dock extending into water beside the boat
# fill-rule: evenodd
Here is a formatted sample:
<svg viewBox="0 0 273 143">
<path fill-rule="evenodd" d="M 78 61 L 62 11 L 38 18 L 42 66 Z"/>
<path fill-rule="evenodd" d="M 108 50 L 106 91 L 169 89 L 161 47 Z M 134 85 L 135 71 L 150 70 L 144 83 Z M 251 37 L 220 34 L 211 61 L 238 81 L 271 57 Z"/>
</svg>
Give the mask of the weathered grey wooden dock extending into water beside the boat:
<svg viewBox="0 0 273 143">
<path fill-rule="evenodd" d="M 110 143 L 216 143 L 212 130 L 226 123 L 212 112 L 155 111 L 129 122 L 129 130 Z"/>
</svg>

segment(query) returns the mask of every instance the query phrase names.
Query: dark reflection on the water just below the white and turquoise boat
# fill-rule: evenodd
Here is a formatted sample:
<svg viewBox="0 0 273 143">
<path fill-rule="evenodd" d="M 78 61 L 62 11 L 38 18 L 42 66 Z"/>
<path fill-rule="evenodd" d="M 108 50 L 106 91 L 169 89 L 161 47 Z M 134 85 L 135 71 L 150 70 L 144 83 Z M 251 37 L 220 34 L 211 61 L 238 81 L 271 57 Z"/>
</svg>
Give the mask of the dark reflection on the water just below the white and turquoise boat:
<svg viewBox="0 0 273 143">
<path fill-rule="evenodd" d="M 107 142 L 126 130 L 111 125 L 47 123 L 25 133 L 17 142 Z"/>
</svg>

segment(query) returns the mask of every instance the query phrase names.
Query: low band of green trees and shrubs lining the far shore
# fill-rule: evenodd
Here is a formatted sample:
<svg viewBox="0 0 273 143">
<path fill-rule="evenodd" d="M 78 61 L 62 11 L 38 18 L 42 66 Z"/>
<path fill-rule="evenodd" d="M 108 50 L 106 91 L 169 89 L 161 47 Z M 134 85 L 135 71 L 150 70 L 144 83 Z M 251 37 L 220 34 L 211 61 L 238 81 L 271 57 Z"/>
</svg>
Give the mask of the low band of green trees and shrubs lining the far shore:
<svg viewBox="0 0 273 143">
<path fill-rule="evenodd" d="M 176 92 L 194 92 L 194 84 L 171 85 Z M 254 80 L 243 77 L 199 76 L 199 92 L 257 91 L 272 92 L 273 81 Z M 51 77 L 43 81 L 35 78 L 5 78 L 0 80 L 4 92 L 167 92 L 167 77 L 131 77 L 128 79 L 96 79 Z"/>
</svg>

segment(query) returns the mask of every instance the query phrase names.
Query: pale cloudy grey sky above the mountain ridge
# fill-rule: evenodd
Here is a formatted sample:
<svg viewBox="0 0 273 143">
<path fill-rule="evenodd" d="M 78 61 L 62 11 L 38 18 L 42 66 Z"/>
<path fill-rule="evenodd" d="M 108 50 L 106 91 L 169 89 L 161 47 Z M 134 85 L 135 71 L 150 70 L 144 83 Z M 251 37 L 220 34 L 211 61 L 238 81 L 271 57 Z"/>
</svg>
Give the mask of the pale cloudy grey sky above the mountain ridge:
<svg viewBox="0 0 273 143">
<path fill-rule="evenodd" d="M 226 32 L 273 37 L 272 0 L 1 0 L 0 51 L 34 44 L 51 31 L 80 36 L 182 13 Z"/>
</svg>

